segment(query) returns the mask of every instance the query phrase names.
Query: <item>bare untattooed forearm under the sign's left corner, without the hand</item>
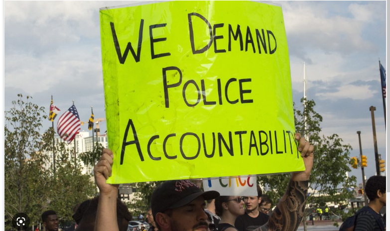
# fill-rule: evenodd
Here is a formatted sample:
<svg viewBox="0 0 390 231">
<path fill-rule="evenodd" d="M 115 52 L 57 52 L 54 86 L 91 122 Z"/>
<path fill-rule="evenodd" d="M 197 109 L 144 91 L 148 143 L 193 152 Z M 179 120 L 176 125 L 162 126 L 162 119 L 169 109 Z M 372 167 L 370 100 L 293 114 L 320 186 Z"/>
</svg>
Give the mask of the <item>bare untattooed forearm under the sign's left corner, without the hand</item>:
<svg viewBox="0 0 390 231">
<path fill-rule="evenodd" d="M 118 189 L 109 194 L 100 194 L 96 214 L 95 231 L 119 231 L 117 223 Z"/>
</svg>

